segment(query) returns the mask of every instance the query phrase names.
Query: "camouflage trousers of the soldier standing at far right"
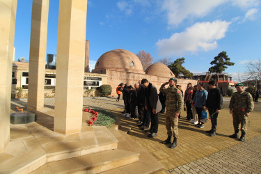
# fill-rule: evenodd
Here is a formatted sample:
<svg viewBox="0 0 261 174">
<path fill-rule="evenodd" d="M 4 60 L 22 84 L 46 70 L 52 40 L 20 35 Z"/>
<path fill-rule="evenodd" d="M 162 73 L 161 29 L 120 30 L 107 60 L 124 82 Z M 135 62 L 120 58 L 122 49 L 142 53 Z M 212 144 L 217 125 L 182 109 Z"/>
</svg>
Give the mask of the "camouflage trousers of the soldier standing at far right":
<svg viewBox="0 0 261 174">
<path fill-rule="evenodd" d="M 239 125 L 241 124 L 241 132 L 246 133 L 246 123 L 248 118 L 244 116 L 244 111 L 233 111 L 232 116 L 235 132 L 239 132 Z"/>
</svg>

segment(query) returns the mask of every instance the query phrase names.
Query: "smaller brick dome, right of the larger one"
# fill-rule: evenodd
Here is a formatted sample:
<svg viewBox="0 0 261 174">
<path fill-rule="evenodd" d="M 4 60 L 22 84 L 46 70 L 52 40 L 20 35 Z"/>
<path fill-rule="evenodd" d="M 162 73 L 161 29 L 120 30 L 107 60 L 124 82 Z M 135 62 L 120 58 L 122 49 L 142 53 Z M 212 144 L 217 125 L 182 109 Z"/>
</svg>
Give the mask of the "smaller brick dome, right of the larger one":
<svg viewBox="0 0 261 174">
<path fill-rule="evenodd" d="M 145 70 L 145 73 L 158 77 L 175 77 L 173 72 L 163 63 L 153 63 Z"/>
</svg>

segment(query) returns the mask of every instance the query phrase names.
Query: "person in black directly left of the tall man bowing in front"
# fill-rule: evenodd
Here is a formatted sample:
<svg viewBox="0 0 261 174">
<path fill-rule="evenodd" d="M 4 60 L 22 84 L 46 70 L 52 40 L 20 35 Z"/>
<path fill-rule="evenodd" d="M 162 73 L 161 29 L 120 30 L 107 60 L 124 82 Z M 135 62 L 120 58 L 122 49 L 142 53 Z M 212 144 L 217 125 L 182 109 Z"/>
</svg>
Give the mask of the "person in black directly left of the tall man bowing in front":
<svg viewBox="0 0 261 174">
<path fill-rule="evenodd" d="M 141 127 L 143 126 L 143 113 L 144 113 L 144 105 L 145 105 L 145 88 L 141 84 L 135 84 L 134 87 L 136 88 L 137 91 L 137 103 L 136 105 L 138 106 L 138 113 L 139 113 L 139 121 L 138 121 L 138 126 Z"/>
</svg>

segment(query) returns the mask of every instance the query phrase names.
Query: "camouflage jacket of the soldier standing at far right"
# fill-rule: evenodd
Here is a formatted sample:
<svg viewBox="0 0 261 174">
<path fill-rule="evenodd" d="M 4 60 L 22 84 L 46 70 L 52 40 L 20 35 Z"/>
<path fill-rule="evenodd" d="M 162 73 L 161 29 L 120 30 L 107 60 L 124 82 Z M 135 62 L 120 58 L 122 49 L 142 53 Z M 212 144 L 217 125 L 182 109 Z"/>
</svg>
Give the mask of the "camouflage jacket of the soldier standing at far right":
<svg viewBox="0 0 261 174">
<path fill-rule="evenodd" d="M 245 111 L 246 113 L 253 111 L 254 102 L 252 95 L 245 91 L 233 93 L 229 103 L 229 109 L 233 111 Z"/>
</svg>

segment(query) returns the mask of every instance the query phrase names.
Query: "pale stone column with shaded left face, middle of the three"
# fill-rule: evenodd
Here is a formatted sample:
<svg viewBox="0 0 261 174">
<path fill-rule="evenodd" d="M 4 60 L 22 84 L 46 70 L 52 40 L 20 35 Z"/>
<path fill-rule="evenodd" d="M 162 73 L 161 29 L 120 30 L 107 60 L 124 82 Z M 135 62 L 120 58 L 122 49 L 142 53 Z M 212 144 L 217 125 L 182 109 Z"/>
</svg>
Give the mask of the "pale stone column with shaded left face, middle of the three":
<svg viewBox="0 0 261 174">
<path fill-rule="evenodd" d="M 29 58 L 28 111 L 44 106 L 49 0 L 33 0 Z"/>
</svg>

